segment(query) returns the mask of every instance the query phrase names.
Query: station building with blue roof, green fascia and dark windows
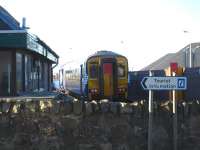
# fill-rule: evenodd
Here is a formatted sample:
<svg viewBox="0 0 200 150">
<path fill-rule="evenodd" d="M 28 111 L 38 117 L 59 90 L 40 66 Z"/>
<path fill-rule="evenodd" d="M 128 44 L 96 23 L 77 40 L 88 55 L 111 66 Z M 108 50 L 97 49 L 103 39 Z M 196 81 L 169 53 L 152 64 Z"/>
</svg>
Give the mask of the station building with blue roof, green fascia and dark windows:
<svg viewBox="0 0 200 150">
<path fill-rule="evenodd" d="M 0 96 L 51 91 L 58 58 L 0 6 Z"/>
</svg>

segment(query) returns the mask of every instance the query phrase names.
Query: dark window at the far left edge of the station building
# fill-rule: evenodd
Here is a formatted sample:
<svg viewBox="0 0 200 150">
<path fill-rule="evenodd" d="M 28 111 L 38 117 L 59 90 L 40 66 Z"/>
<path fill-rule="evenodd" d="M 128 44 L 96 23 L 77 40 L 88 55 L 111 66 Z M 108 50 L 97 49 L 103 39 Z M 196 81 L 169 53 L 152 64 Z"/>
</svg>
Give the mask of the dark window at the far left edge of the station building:
<svg viewBox="0 0 200 150">
<path fill-rule="evenodd" d="M 0 52 L 0 95 L 11 94 L 11 52 Z"/>
</svg>

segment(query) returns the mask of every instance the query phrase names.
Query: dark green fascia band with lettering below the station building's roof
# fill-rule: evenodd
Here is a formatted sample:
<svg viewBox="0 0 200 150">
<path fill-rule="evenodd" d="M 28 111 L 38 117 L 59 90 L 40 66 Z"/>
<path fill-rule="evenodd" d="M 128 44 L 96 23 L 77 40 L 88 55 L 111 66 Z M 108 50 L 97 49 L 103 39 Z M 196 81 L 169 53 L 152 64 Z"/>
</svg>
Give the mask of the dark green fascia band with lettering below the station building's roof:
<svg viewBox="0 0 200 150">
<path fill-rule="evenodd" d="M 4 30 L 0 31 L 0 48 L 20 48 L 30 50 L 58 63 L 59 56 L 37 36 L 26 30 Z"/>
</svg>

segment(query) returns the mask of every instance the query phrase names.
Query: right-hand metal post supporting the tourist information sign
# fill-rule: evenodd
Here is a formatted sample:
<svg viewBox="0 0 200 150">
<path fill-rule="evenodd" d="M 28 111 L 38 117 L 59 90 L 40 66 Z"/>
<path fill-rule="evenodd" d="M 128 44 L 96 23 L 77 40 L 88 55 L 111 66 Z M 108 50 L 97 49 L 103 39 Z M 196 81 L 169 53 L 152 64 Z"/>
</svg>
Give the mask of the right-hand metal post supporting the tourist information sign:
<svg viewBox="0 0 200 150">
<path fill-rule="evenodd" d="M 175 72 L 172 73 L 172 76 L 175 76 Z M 177 101 L 176 101 L 176 91 L 172 91 L 173 99 L 173 146 L 174 150 L 177 150 Z"/>
</svg>

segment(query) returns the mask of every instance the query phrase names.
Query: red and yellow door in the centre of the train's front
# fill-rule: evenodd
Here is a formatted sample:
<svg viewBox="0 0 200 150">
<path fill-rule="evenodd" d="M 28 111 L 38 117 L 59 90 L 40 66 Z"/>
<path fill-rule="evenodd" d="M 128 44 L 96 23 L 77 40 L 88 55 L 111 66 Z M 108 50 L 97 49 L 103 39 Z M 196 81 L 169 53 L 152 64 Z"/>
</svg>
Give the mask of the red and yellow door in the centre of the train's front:
<svg viewBox="0 0 200 150">
<path fill-rule="evenodd" d="M 103 62 L 103 93 L 104 97 L 114 96 L 114 62 Z"/>
</svg>

